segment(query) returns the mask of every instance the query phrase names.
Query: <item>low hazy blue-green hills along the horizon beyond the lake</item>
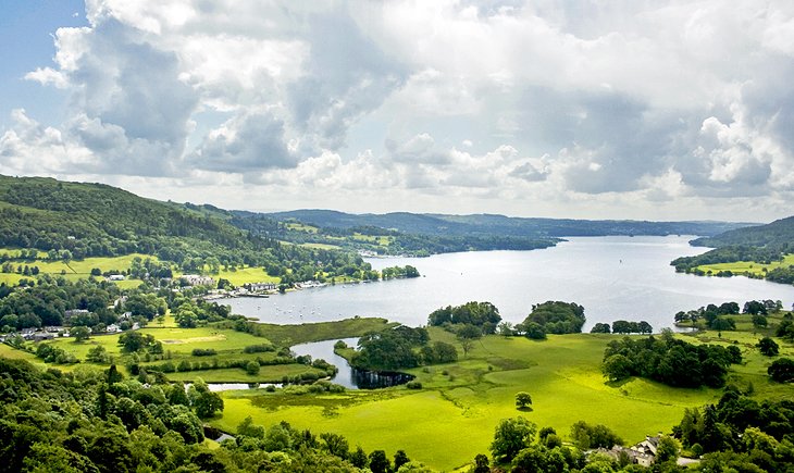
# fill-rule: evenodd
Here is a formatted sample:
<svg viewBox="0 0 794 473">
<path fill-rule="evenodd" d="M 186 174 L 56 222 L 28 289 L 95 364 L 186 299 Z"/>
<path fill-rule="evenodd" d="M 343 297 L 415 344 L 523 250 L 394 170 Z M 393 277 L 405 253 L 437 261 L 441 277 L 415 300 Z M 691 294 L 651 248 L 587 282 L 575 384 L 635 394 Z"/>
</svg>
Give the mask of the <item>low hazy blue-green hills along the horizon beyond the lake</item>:
<svg viewBox="0 0 794 473">
<path fill-rule="evenodd" d="M 298 221 L 320 228 L 380 227 L 407 234 L 435 236 L 567 237 L 606 235 L 711 236 L 753 225 L 728 222 L 648 222 L 630 220 L 524 219 L 505 215 L 444 215 L 396 212 L 349 214 L 330 210 L 265 213 L 276 221 Z"/>
</svg>

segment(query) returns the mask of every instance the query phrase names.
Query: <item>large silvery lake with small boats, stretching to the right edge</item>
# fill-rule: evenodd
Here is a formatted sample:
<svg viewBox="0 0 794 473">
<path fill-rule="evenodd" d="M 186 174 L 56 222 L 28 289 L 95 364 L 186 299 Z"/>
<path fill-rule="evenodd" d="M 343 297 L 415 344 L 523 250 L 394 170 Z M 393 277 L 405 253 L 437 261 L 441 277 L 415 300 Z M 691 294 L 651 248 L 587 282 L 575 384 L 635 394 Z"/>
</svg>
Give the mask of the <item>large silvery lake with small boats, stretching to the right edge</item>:
<svg viewBox="0 0 794 473">
<path fill-rule="evenodd" d="M 692 237 L 575 237 L 533 251 L 475 251 L 430 258 L 369 260 L 373 267 L 411 264 L 422 277 L 312 288 L 268 299 L 221 299 L 236 313 L 262 322 L 299 324 L 381 316 L 411 326 L 439 307 L 493 302 L 503 320 L 518 323 L 532 304 L 563 300 L 584 306 L 587 332 L 597 322 L 645 320 L 655 331 L 672 326 L 681 310 L 752 299 L 783 301 L 794 287 L 746 277 L 675 273 L 670 261 L 707 251 Z"/>
</svg>

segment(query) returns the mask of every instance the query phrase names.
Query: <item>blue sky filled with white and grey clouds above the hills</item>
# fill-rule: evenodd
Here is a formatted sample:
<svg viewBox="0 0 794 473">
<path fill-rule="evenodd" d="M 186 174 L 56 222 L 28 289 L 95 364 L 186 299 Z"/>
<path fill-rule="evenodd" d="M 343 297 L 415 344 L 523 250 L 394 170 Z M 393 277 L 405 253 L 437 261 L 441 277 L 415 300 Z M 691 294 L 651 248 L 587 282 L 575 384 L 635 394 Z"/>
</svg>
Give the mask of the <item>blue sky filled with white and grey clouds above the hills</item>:
<svg viewBox="0 0 794 473">
<path fill-rule="evenodd" d="M 0 9 L 0 174 L 253 211 L 794 214 L 789 0 Z"/>
</svg>

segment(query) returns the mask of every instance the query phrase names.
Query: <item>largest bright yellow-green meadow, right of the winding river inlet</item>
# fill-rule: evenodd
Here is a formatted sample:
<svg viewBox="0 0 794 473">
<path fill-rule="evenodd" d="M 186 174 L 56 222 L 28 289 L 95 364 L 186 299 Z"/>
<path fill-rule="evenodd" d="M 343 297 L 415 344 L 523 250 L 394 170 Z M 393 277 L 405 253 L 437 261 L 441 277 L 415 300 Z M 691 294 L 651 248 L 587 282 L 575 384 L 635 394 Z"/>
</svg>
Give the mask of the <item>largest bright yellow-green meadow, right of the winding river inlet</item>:
<svg viewBox="0 0 794 473">
<path fill-rule="evenodd" d="M 452 343 L 432 328 L 433 339 Z M 404 449 L 411 459 L 451 470 L 487 453 L 500 419 L 524 415 L 553 426 L 563 437 L 584 420 L 608 425 L 625 441 L 669 432 L 686 407 L 719 398 L 715 389 L 678 389 L 642 378 L 607 384 L 599 365 L 609 335 L 550 336 L 547 341 L 489 336 L 449 365 L 409 370 L 423 384 L 349 391 L 333 397 L 225 393 L 226 408 L 215 424 L 234 430 L 247 415 L 261 425 L 286 420 L 298 428 L 335 432 L 364 449 Z M 755 366 L 747 368 L 754 371 Z M 446 372 L 446 374 L 445 374 Z M 762 384 L 755 381 L 757 390 Z M 514 395 L 532 395 L 533 411 L 519 412 Z"/>
</svg>

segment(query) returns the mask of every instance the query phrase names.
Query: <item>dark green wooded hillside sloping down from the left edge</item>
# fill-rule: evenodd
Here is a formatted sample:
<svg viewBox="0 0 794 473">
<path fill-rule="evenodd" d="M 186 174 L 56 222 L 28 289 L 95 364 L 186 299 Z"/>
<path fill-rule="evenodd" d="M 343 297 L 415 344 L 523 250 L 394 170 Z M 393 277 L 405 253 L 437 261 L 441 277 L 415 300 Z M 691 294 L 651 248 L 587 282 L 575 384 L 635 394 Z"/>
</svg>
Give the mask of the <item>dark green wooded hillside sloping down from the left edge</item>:
<svg viewBox="0 0 794 473">
<path fill-rule="evenodd" d="M 57 251 L 77 260 L 153 254 L 186 271 L 210 261 L 215 266 L 268 266 L 274 274 L 318 261 L 360 263 L 348 261 L 350 256 L 252 236 L 211 209 L 145 199 L 103 184 L 0 176 L 0 247 Z"/>
</svg>

